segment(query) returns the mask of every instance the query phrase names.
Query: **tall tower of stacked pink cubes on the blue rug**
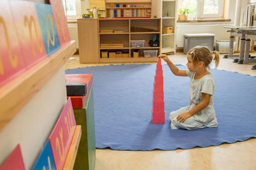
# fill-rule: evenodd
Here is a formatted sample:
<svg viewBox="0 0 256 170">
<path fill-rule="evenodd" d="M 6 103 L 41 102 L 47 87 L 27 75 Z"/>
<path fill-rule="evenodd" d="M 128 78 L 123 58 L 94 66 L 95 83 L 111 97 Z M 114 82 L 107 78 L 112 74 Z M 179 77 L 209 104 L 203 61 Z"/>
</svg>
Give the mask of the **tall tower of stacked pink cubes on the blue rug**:
<svg viewBox="0 0 256 170">
<path fill-rule="evenodd" d="M 152 123 L 164 124 L 164 85 L 161 58 L 158 59 L 153 90 Z"/>
</svg>

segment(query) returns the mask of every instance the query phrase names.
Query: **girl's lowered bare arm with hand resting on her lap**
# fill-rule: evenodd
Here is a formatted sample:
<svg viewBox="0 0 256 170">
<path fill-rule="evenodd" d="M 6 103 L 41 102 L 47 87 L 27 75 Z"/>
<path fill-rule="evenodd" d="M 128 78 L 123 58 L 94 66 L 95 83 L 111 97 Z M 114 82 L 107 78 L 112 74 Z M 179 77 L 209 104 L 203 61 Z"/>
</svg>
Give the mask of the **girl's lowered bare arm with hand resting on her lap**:
<svg viewBox="0 0 256 170">
<path fill-rule="evenodd" d="M 203 110 L 206 106 L 208 106 L 208 104 L 210 103 L 210 99 L 211 94 L 202 93 L 202 102 L 197 104 L 195 108 L 187 112 L 181 113 L 179 116 L 177 116 L 177 121 L 182 123 L 185 122 L 187 118 L 192 117 L 193 115 L 198 113 L 198 111 Z"/>
</svg>

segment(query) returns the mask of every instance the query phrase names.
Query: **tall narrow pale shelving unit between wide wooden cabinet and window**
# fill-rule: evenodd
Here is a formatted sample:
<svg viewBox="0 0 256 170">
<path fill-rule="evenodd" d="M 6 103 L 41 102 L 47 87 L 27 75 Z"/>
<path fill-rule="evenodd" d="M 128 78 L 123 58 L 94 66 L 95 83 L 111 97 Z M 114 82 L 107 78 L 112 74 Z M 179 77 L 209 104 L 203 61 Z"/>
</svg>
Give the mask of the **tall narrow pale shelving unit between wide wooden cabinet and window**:
<svg viewBox="0 0 256 170">
<path fill-rule="evenodd" d="M 161 27 L 171 26 L 173 27 L 173 33 L 161 34 L 162 46 L 161 53 L 176 52 L 176 9 L 177 1 L 175 0 L 161 0 L 160 15 L 162 24 Z M 168 17 L 164 17 L 168 11 Z"/>
</svg>

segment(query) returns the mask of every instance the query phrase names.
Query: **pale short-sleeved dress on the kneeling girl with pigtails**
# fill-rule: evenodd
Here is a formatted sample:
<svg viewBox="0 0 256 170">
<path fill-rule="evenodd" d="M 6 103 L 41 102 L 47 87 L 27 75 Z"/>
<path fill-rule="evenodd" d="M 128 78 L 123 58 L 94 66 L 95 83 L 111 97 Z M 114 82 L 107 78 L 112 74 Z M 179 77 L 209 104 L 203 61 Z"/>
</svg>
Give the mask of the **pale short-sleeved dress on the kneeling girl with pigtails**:
<svg viewBox="0 0 256 170">
<path fill-rule="evenodd" d="M 200 78 L 199 80 L 195 80 L 195 72 L 191 72 L 187 70 L 187 75 L 191 79 L 190 81 L 190 89 L 189 89 L 189 106 L 184 108 L 180 108 L 177 111 L 172 111 L 170 113 L 170 121 L 172 129 L 200 129 L 204 127 L 217 127 L 218 122 L 215 117 L 215 111 L 213 108 L 213 95 L 215 84 L 212 78 L 212 74 L 207 74 Z M 210 103 L 203 110 L 198 111 L 192 117 L 189 117 L 185 120 L 185 122 L 178 122 L 177 116 L 181 113 L 191 110 L 195 108 L 197 104 L 202 102 L 202 93 L 211 94 Z"/>
</svg>

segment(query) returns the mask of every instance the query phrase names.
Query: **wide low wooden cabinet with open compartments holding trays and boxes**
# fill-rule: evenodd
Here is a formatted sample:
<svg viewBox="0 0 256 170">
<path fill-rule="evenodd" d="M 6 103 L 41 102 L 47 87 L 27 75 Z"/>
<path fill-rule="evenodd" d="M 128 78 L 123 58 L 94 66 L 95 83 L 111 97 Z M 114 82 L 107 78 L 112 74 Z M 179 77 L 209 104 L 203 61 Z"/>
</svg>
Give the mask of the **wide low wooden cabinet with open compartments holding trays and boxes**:
<svg viewBox="0 0 256 170">
<path fill-rule="evenodd" d="M 97 20 L 97 29 L 93 36 L 87 36 L 90 19 L 79 19 L 79 57 L 81 63 L 91 62 L 156 62 L 157 57 L 145 57 L 144 51 L 161 52 L 161 18 L 104 18 Z M 83 23 L 83 24 L 79 24 Z M 84 25 L 82 28 L 81 26 Z M 97 34 L 95 31 L 98 31 Z M 87 32 L 87 33 L 86 33 Z M 149 41 L 157 37 L 159 45 L 150 46 Z M 131 44 L 144 40 L 143 47 L 131 47 Z M 92 44 L 88 42 L 98 41 L 98 53 L 92 53 Z M 93 46 L 96 46 L 94 43 Z M 84 50 L 80 50 L 80 48 Z M 96 47 L 93 47 L 96 49 Z M 148 52 L 146 51 L 146 52 Z"/>
</svg>

